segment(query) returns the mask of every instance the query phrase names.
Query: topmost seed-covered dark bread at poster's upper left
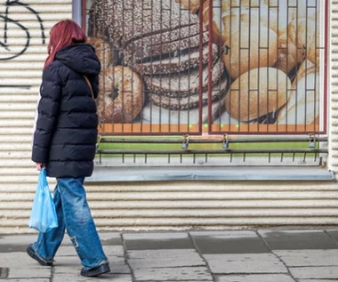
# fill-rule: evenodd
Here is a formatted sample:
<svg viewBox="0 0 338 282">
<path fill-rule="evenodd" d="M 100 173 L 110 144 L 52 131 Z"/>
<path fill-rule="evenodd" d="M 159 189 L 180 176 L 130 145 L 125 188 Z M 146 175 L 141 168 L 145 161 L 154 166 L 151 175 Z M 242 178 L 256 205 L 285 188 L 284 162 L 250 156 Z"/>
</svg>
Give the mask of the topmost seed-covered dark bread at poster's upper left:
<svg viewBox="0 0 338 282">
<path fill-rule="evenodd" d="M 192 26 L 198 16 L 173 0 L 96 0 L 89 12 L 89 36 L 108 36 L 117 47 L 132 40 Z"/>
</svg>

